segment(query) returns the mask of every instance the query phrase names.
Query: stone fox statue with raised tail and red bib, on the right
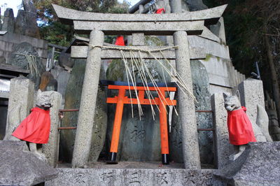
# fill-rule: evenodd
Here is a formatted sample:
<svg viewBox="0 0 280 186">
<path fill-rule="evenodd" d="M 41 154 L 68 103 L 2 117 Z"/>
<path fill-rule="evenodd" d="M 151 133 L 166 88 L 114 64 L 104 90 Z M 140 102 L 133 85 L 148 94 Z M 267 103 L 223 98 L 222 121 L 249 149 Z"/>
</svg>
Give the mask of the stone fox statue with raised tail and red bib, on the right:
<svg viewBox="0 0 280 186">
<path fill-rule="evenodd" d="M 265 141 L 272 141 L 272 138 L 269 136 L 268 132 L 268 116 L 267 113 L 265 112 L 265 108 L 262 106 L 258 105 L 258 115 L 257 115 L 257 120 L 255 122 L 250 122 L 248 119 L 247 115 L 244 114 L 243 110 L 246 110 L 246 108 L 241 108 L 241 103 L 240 103 L 240 96 L 239 96 L 239 91 L 235 93 L 234 96 L 230 96 L 228 94 L 223 93 L 224 101 L 225 101 L 225 109 L 228 110 L 228 130 L 229 130 L 229 136 L 230 136 L 230 143 L 234 145 L 235 147 L 235 152 L 234 154 L 230 155 L 230 160 L 234 161 L 237 159 L 242 152 L 246 149 L 246 145 L 248 142 L 265 142 Z M 239 112 L 238 117 L 241 113 L 241 121 L 240 122 L 245 122 L 245 124 L 240 124 L 239 120 L 231 123 L 230 120 L 230 115 L 232 113 Z M 235 115 L 237 117 L 237 115 Z M 236 118 L 235 118 L 236 119 Z M 235 126 L 239 125 L 239 126 Z M 244 139 L 236 139 L 238 137 L 235 136 L 235 132 L 232 132 L 232 129 L 240 129 L 240 127 L 245 127 L 246 129 L 241 129 L 244 130 L 246 134 L 243 134 L 243 131 L 240 132 L 241 136 L 246 135 Z M 253 128 L 253 130 L 252 130 Z M 253 136 L 254 135 L 254 136 Z M 231 138 L 232 137 L 232 138 Z M 238 141 L 235 143 L 235 141 Z"/>
</svg>

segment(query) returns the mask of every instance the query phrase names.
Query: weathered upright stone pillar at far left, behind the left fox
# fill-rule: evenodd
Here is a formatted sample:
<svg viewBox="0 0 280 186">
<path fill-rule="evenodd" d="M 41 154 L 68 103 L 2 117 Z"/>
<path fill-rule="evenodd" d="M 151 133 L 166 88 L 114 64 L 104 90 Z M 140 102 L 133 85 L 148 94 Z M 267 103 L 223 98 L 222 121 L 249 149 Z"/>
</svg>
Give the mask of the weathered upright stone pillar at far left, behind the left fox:
<svg viewBox="0 0 280 186">
<path fill-rule="evenodd" d="M 20 77 L 10 80 L 10 95 L 8 100 L 8 116 L 5 140 L 18 140 L 11 136 L 22 120 L 29 115 L 33 107 L 34 83 L 31 80 Z"/>
</svg>

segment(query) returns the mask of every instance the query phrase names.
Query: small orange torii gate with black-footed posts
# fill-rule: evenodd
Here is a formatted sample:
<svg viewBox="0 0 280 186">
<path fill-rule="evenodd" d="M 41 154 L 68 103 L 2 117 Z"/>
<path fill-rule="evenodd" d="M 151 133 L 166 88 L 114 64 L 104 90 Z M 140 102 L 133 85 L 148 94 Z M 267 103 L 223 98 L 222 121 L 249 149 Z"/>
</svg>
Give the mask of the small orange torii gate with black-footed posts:
<svg viewBox="0 0 280 186">
<path fill-rule="evenodd" d="M 165 92 L 175 92 L 176 87 L 134 87 L 134 86 L 120 86 L 109 85 L 108 89 L 118 90 L 118 96 L 107 98 L 107 103 L 117 103 L 116 115 L 113 123 L 113 134 L 111 139 L 111 148 L 109 155 L 109 164 L 117 164 L 116 157 L 118 152 L 118 141 L 120 138 L 120 127 L 123 117 L 124 104 L 141 104 L 141 105 L 158 105 L 160 109 L 160 138 L 162 149 L 162 164 L 169 164 L 169 145 L 168 145 L 168 131 L 167 131 L 167 110 L 166 106 L 176 106 L 176 100 L 170 100 L 165 97 Z M 137 90 L 138 99 L 128 98 L 125 96 L 126 90 Z M 158 97 L 155 99 L 145 99 L 144 94 L 146 90 L 157 91 Z"/>
</svg>

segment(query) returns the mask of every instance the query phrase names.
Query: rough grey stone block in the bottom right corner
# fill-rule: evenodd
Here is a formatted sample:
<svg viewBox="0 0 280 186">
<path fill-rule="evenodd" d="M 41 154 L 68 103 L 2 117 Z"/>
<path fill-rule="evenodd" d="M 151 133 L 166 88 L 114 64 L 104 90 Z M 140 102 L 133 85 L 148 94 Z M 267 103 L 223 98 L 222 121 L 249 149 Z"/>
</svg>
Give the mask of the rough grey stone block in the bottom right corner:
<svg viewBox="0 0 280 186">
<path fill-rule="evenodd" d="M 279 185 L 280 142 L 249 143 L 243 154 L 215 173 L 230 185 Z"/>
</svg>

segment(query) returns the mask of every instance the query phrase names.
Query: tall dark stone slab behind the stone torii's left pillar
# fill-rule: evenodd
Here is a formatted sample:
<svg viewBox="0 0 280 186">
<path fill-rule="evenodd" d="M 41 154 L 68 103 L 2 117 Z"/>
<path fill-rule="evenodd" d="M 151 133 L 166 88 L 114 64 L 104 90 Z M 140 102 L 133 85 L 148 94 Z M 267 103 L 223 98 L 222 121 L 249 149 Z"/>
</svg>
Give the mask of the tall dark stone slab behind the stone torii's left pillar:
<svg viewBox="0 0 280 186">
<path fill-rule="evenodd" d="M 65 109 L 80 108 L 80 95 L 83 88 L 83 74 L 85 73 L 85 59 L 75 59 L 73 71 L 71 72 L 65 92 Z M 100 72 L 104 77 L 104 72 Z M 78 112 L 64 113 L 62 127 L 76 127 L 78 122 Z M 104 89 L 99 87 L 97 94 L 97 107 L 94 116 L 94 129 L 92 135 L 92 145 L 90 151 L 90 162 L 96 162 L 99 153 L 104 147 L 106 136 L 106 94 Z M 76 130 L 63 130 L 60 135 L 61 159 L 65 162 L 71 162 L 73 156 L 73 145 L 75 141 Z"/>
</svg>

